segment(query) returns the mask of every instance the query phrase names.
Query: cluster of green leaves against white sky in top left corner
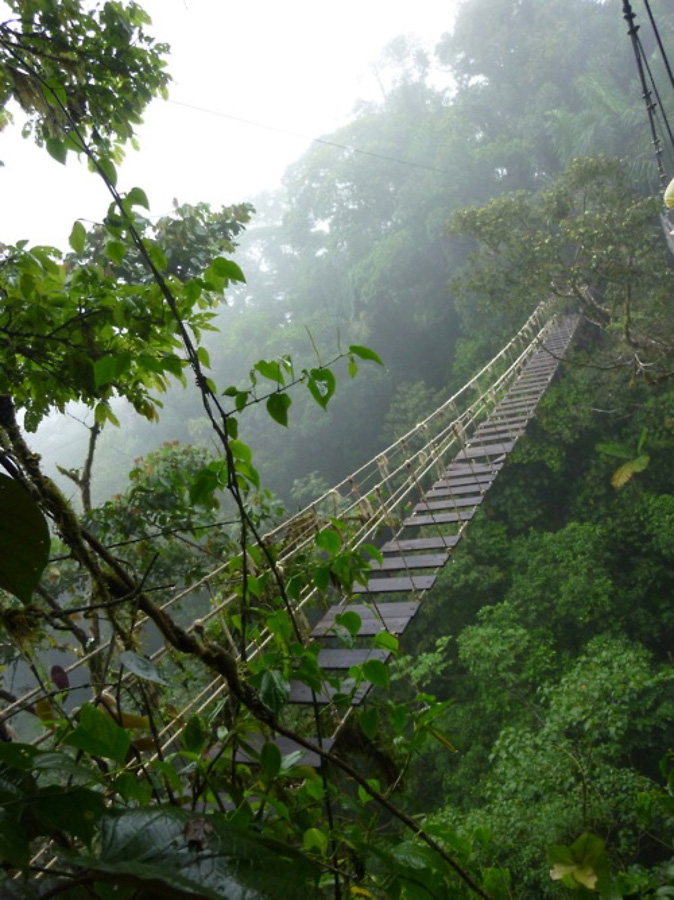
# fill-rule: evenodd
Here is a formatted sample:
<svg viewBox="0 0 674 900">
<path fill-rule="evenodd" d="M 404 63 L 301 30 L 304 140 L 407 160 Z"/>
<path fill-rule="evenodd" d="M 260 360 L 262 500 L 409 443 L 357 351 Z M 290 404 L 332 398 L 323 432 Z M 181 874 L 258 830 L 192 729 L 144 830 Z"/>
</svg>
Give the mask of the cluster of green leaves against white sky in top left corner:
<svg viewBox="0 0 674 900">
<path fill-rule="evenodd" d="M 8 0 L 13 16 L 0 25 L 0 103 L 18 100 L 24 133 L 59 161 L 80 142 L 101 159 L 121 158 L 147 104 L 165 94 L 168 47 L 145 31 L 137 4 L 91 5 L 73 0 Z"/>
</svg>

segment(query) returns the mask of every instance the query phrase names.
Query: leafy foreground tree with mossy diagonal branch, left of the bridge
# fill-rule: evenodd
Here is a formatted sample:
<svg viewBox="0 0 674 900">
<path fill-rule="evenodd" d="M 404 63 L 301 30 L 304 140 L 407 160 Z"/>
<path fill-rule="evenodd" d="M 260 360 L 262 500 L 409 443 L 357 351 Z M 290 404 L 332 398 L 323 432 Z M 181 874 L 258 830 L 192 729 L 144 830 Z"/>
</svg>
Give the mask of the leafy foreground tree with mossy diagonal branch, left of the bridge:
<svg viewBox="0 0 674 900">
<path fill-rule="evenodd" d="M 197 259 L 194 269 L 190 259 L 188 269 L 179 258 L 180 234 L 173 223 L 162 223 L 158 229 L 165 232 L 168 250 L 173 251 L 170 256 L 137 214 L 138 207 L 147 207 L 144 191 L 133 188 L 122 194 L 116 186 L 119 142 L 132 135 L 145 100 L 165 83 L 160 57 L 143 49 L 145 39 L 132 27 L 146 22 L 146 17 L 135 4 L 124 9 L 113 2 L 91 14 L 77 3 L 57 6 L 26 0 L 13 8 L 22 14 L 23 30 L 19 34 L 6 23 L 4 47 L 12 59 L 20 48 L 21 71 L 45 100 L 45 104 L 39 97 L 31 101 L 38 139 L 44 139 L 61 162 L 68 153 L 83 155 L 103 178 L 112 202 L 104 231 L 89 241 L 81 224 L 75 224 L 70 237 L 73 257 L 64 262 L 53 248 L 17 246 L 8 249 L 0 273 L 0 351 L 5 363 L 0 382 L 0 459 L 8 473 L 0 479 L 5 501 L 1 613 L 6 630 L 33 667 L 37 687 L 27 711 L 44 723 L 46 744 L 43 748 L 10 740 L 0 746 L 3 890 L 34 895 L 32 860 L 40 851 L 45 858 L 56 853 L 59 861 L 58 868 L 47 867 L 44 887 L 51 896 L 79 891 L 106 896 L 112 890 L 120 896 L 159 891 L 164 896 L 216 897 L 245 891 L 262 898 L 279 888 L 303 896 L 316 890 L 324 876 L 339 895 L 343 879 L 365 877 L 359 860 L 370 863 L 372 827 L 367 823 L 353 832 L 336 829 L 336 784 L 306 771 L 293 754 L 284 759 L 268 739 L 273 732 L 331 761 L 363 796 L 409 829 L 414 837 L 408 841 L 411 852 L 417 852 L 419 844 L 424 866 L 447 896 L 452 882 L 463 892 L 487 896 L 463 862 L 375 784 L 280 717 L 291 673 L 313 690 L 319 689 L 323 675 L 315 652 L 303 642 L 291 601 L 319 582 L 325 581 L 327 590 L 331 575 L 336 583 L 350 587 L 366 563 L 361 555 L 342 548 L 342 524 L 335 521 L 316 536 L 322 564 L 313 568 L 309 561 L 304 571 L 285 575 L 277 564 L 279 549 L 263 540 L 260 531 L 266 513 L 258 508 L 261 481 L 252 451 L 238 438 L 238 417 L 248 406 L 264 403 L 271 418 L 286 426 L 290 387 L 305 384 L 325 408 L 336 379 L 320 362 L 296 371 L 288 355 L 259 360 L 250 370 L 248 386 L 231 386 L 224 392 L 206 374 L 208 355 L 199 336 L 208 327 L 207 310 L 230 281 L 242 279 L 242 273 L 231 260 L 220 255 L 213 259 L 210 254 Z M 91 34 L 98 43 L 89 42 Z M 45 49 L 51 40 L 56 54 Z M 138 53 L 132 41 L 139 45 Z M 119 83 L 118 51 L 139 62 L 130 75 L 122 66 L 122 74 L 129 77 Z M 96 54 L 103 65 L 93 67 L 94 77 L 78 77 L 76 63 L 80 58 L 91 62 Z M 15 78 L 18 92 L 11 63 L 5 62 L 4 68 L 8 78 Z M 134 88 L 131 76 L 144 77 L 146 90 L 137 86 L 138 101 L 134 104 L 131 98 L 126 104 L 126 94 Z M 77 104 L 68 93 L 75 82 L 83 92 Z M 111 84 L 120 94 L 114 110 Z M 106 131 L 99 119 L 107 116 L 112 124 Z M 229 240 L 247 214 L 247 209 L 239 210 L 233 221 L 225 216 L 223 223 L 205 207 L 188 213 L 205 230 L 210 228 L 208 249 L 215 243 L 216 252 L 223 241 L 219 226 Z M 101 246 L 109 263 L 103 264 L 95 252 Z M 352 375 L 357 360 L 380 362 L 376 353 L 358 344 L 349 345 L 340 356 Z M 169 376 L 181 379 L 188 368 L 219 443 L 217 458 L 167 448 L 132 473 L 134 484 L 124 501 L 92 509 L 93 525 L 78 517 L 42 472 L 18 415 L 23 414 L 30 430 L 48 412 L 78 401 L 95 410 L 97 425 L 115 424 L 110 401 L 123 397 L 152 419 L 160 405 L 153 392 L 164 390 Z M 176 472 L 177 457 L 182 458 Z M 86 472 L 72 474 L 80 486 L 86 483 Z M 153 567 L 160 556 L 158 571 L 168 560 L 161 543 L 153 545 L 154 558 L 152 551 L 146 553 L 146 542 L 154 539 L 147 528 L 183 530 L 187 525 L 199 539 L 204 519 L 196 522 L 190 515 L 192 507 L 212 510 L 220 493 L 228 496 L 237 518 L 237 553 L 228 553 L 225 546 L 227 555 L 218 569 L 223 592 L 233 596 L 216 608 L 220 616 L 214 623 L 187 627 L 155 596 L 155 587 L 161 586 L 152 583 Z M 179 529 L 176 513 L 191 521 L 180 523 Z M 134 518 L 140 521 L 130 521 Z M 12 528 L 19 524 L 19 539 L 12 539 Z M 123 536 L 120 532 L 129 526 L 137 534 L 145 532 L 139 543 L 120 549 L 103 542 Z M 70 591 L 53 595 L 51 574 L 42 578 L 50 529 L 66 556 L 60 561 L 74 570 L 78 596 Z M 17 548 L 18 560 L 11 557 Z M 171 574 L 186 577 L 191 562 L 185 564 L 183 559 L 176 569 L 171 560 Z M 56 585 L 58 576 L 52 581 Z M 265 621 L 255 618 L 254 604 L 262 607 Z M 222 614 L 224 607 L 229 608 Z M 92 619 L 91 632 L 80 625 L 81 615 Z M 136 624 L 141 615 L 170 648 L 161 663 L 139 652 Z M 67 672 L 52 666 L 47 675 L 32 654 L 47 623 L 70 631 L 88 662 L 90 683 L 78 687 L 88 689 L 91 699 L 78 710 L 69 701 Z M 261 640 L 265 626 L 264 652 L 253 655 L 251 642 Z M 180 738 L 170 742 L 167 755 L 160 732 L 179 713 L 163 689 L 171 677 L 171 690 L 176 690 L 174 666 L 182 673 L 185 691 L 193 690 L 197 673 L 206 676 L 206 689 L 209 679 L 211 683 L 216 677 L 224 679 L 226 699 L 208 719 L 196 714 L 179 721 Z M 358 677 L 380 683 L 380 673 L 380 666 L 369 666 Z M 3 699 L 10 704 L 8 711 L 16 711 L 15 698 Z M 11 737 L 4 726 L 3 737 Z M 249 756 L 237 765 L 242 748 Z M 231 815 L 223 792 L 234 800 L 236 811 Z M 183 808 L 188 805 L 190 809 Z M 197 812 L 204 807 L 204 812 Z M 273 814 L 268 816 L 267 810 Z M 260 825 L 262 835 L 256 830 Z M 390 852 L 382 847 L 379 856 L 391 861 L 389 871 L 400 890 L 400 885 L 414 880 L 416 863 L 410 864 L 402 851 L 396 858 L 396 842 L 391 843 Z M 37 866 L 44 869 L 41 863 Z M 342 871 L 342 866 L 347 868 Z M 380 880 L 376 868 L 370 878 L 374 883 Z M 385 879 L 390 878 L 387 872 Z"/>
</svg>

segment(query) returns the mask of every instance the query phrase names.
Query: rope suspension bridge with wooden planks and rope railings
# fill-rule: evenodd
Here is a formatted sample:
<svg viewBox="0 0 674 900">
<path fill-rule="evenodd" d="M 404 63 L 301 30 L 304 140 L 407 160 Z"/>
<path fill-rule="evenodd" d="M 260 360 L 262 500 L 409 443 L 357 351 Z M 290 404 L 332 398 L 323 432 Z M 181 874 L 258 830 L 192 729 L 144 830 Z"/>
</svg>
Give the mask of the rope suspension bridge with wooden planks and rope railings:
<svg viewBox="0 0 674 900">
<path fill-rule="evenodd" d="M 369 660 L 388 663 L 391 649 L 377 636 L 404 635 L 535 415 L 577 325 L 578 317 L 551 315 L 549 305 L 541 304 L 512 340 L 435 412 L 265 535 L 265 544 L 275 548 L 275 565 L 282 571 L 302 555 L 320 554 L 317 536 L 335 530 L 335 522 L 348 523 L 348 529 L 339 532 L 342 549 L 370 548 L 366 550 L 369 567 L 351 590 L 308 587 L 294 605 L 303 640 L 318 647 L 322 675 L 320 688 L 299 679 L 291 681 L 286 708 L 313 710 L 306 717 L 313 730 L 308 738 L 318 747 L 331 747 L 351 712 L 366 699 L 371 683 L 354 682 L 349 672 Z M 240 593 L 230 562 L 176 592 L 164 608 L 195 599 L 203 604 L 205 598 L 207 611 L 192 623 L 191 631 L 217 632 L 233 655 L 247 661 L 270 646 L 272 635 L 264 629 L 245 648 L 237 642 L 229 614 L 235 611 Z M 113 650 L 108 641 L 79 658 L 73 652 L 64 660 L 71 685 L 70 709 L 91 699 L 89 673 L 97 659 L 112 659 Z M 168 649 L 161 646 L 151 660 L 155 665 L 170 665 Z M 195 714 L 207 714 L 227 695 L 224 679 L 205 668 L 191 678 L 189 699 L 159 732 L 163 750 L 179 741 L 180 723 Z M 44 695 L 44 681 L 38 679 L 21 697 L 5 703 L 0 722 L 20 722 L 22 717 L 25 722 L 27 710 L 34 711 Z M 329 714 L 319 715 L 319 709 Z M 44 732 L 37 740 L 42 738 Z M 287 737 L 262 733 L 251 735 L 235 751 L 235 759 L 255 761 L 257 751 L 269 740 L 283 754 L 295 752 L 298 762 L 319 765 L 319 756 L 306 747 Z"/>
</svg>

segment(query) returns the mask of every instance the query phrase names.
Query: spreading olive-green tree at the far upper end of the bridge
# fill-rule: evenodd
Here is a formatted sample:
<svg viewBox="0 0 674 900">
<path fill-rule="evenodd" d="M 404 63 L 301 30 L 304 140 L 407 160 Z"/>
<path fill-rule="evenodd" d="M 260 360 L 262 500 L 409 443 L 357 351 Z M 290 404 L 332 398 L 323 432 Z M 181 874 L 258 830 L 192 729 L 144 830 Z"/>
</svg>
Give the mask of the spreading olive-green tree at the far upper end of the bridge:
<svg viewBox="0 0 674 900">
<path fill-rule="evenodd" d="M 460 281 L 467 305 L 479 296 L 516 308 L 552 294 L 622 332 L 619 365 L 667 377 L 671 269 L 657 206 L 636 194 L 619 161 L 598 157 L 575 160 L 549 189 L 457 212 L 452 230 L 479 242 Z"/>
</svg>

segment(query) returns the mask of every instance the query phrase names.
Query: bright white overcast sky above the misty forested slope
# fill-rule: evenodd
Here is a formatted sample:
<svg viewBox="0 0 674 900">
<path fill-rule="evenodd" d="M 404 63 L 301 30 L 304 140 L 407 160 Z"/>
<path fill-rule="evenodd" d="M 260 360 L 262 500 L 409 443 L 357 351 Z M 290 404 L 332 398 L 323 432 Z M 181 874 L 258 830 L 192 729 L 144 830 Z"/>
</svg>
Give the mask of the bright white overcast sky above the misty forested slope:
<svg viewBox="0 0 674 900">
<path fill-rule="evenodd" d="M 311 137 L 346 124 L 356 100 L 381 96 L 372 64 L 384 46 L 410 34 L 432 49 L 451 28 L 457 0 L 140 2 L 151 33 L 171 44 L 174 102 L 149 107 L 140 152 L 129 149 L 118 186 L 144 188 L 161 215 L 173 197 L 217 208 L 278 185 Z M 4 243 L 65 246 L 75 219 L 100 220 L 107 209 L 104 188 L 83 164 L 64 168 L 18 129 L 0 135 L 0 160 Z"/>
</svg>

